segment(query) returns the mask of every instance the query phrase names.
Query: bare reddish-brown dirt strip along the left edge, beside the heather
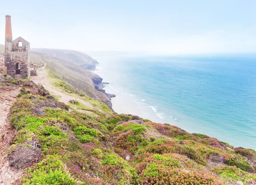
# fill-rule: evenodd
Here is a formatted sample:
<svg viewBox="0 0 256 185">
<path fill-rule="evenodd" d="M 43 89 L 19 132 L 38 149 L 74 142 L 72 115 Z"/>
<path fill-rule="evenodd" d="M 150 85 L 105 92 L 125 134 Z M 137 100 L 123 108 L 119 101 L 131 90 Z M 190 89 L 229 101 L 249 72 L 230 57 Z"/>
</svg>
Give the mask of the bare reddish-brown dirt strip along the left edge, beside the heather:
<svg viewBox="0 0 256 185">
<path fill-rule="evenodd" d="M 10 167 L 6 161 L 6 150 L 15 134 L 7 116 L 20 89 L 21 87 L 0 87 L 0 185 L 11 185 L 22 174 L 20 169 Z"/>
</svg>

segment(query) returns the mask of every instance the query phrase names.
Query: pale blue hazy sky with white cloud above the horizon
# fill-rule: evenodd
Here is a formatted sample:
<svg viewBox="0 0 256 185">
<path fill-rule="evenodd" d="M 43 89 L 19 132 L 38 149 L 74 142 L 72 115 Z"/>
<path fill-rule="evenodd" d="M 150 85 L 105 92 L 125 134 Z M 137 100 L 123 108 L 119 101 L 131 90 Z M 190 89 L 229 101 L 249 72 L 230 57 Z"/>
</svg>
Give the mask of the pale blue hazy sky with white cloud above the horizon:
<svg viewBox="0 0 256 185">
<path fill-rule="evenodd" d="M 256 52 L 256 0 L 5 0 L 13 37 L 32 48 Z"/>
</svg>

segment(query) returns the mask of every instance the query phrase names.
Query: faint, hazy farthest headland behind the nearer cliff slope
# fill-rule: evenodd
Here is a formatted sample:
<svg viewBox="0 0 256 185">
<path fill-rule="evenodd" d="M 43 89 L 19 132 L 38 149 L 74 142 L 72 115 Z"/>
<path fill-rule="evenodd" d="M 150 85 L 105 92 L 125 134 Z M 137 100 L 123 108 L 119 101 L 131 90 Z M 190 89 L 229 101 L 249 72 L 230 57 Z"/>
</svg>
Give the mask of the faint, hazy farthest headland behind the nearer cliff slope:
<svg viewBox="0 0 256 185">
<path fill-rule="evenodd" d="M 42 53 L 45 55 L 57 57 L 64 59 L 66 61 L 70 61 L 74 64 L 82 66 L 85 69 L 95 69 L 96 64 L 99 64 L 96 60 L 91 58 L 90 56 L 68 49 L 31 49 L 33 52 Z"/>
</svg>

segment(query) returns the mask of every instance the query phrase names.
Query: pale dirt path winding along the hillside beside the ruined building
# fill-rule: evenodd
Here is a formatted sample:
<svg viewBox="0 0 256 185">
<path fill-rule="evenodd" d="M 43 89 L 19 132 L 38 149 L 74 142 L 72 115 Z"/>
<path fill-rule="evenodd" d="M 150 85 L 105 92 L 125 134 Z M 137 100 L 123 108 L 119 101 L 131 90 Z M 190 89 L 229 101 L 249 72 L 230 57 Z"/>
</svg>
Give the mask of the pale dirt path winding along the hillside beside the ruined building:
<svg viewBox="0 0 256 185">
<path fill-rule="evenodd" d="M 38 69 L 37 71 L 37 76 L 33 76 L 30 80 L 31 81 L 34 81 L 36 84 L 43 84 L 44 88 L 46 90 L 48 90 L 50 93 L 53 93 L 55 95 L 58 95 L 58 96 L 61 96 L 61 98 L 59 99 L 59 101 L 67 104 L 68 101 L 70 100 L 73 100 L 73 99 L 77 99 L 81 104 L 84 104 L 85 106 L 89 107 L 90 109 L 93 109 L 93 106 L 82 100 L 82 99 L 79 99 L 79 98 L 76 98 L 76 97 L 73 97 L 71 95 L 67 95 L 65 93 L 62 93 L 61 91 L 58 91 L 52 87 L 50 87 L 48 84 L 44 83 L 45 80 L 47 80 L 47 72 L 45 71 L 45 62 L 40 58 L 40 60 L 44 63 L 44 66 L 41 67 L 40 69 Z"/>
</svg>

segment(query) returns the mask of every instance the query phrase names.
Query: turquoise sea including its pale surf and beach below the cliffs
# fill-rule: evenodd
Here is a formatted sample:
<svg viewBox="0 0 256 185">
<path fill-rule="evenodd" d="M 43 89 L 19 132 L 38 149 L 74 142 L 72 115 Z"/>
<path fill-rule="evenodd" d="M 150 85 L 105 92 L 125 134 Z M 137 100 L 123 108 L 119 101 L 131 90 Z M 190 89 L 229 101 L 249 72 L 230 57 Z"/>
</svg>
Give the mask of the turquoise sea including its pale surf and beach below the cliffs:
<svg viewBox="0 0 256 185">
<path fill-rule="evenodd" d="M 90 55 L 117 113 L 256 149 L 256 56 Z"/>
</svg>

